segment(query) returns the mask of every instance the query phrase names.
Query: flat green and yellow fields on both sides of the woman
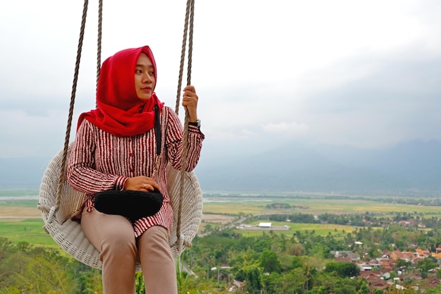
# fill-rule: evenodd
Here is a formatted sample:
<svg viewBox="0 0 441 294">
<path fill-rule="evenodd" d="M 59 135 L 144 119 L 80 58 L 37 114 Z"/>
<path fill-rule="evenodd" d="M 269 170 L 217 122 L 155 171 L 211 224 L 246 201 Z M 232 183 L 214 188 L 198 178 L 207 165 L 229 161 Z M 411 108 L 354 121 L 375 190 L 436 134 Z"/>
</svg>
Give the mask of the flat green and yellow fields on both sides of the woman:
<svg viewBox="0 0 441 294">
<path fill-rule="evenodd" d="M 292 197 L 204 197 L 204 216 L 211 228 L 222 226 L 221 216 L 240 216 L 249 214 L 366 214 L 382 217 L 393 217 L 397 213 L 418 214 L 425 218 L 441 217 L 441 207 L 423 205 L 406 205 L 382 203 L 378 201 L 356 199 L 301 199 Z M 291 209 L 268 209 L 268 204 L 290 204 Z M 302 206 L 303 208 L 299 208 Z M 219 217 L 216 217 L 219 216 Z M 19 217 L 20 219 L 16 219 Z M 234 218 L 233 218 L 234 219 Z M 264 221 L 264 220 L 261 220 Z M 344 235 L 355 230 L 353 226 L 337 226 L 319 223 L 277 223 L 274 226 L 290 226 L 287 231 L 273 231 L 292 235 L 296 231 L 314 231 L 318 235 Z M 225 222 L 224 222 L 225 223 Z M 254 223 L 257 224 L 257 223 Z M 0 201 L 0 236 L 13 242 L 25 241 L 32 245 L 57 247 L 49 234 L 42 228 L 44 225 L 41 214 L 37 209 L 37 200 L 4 200 Z M 238 229 L 239 230 L 239 229 Z M 239 230 L 243 235 L 260 235 L 262 231 Z M 271 231 L 271 230 L 266 230 Z"/>
</svg>

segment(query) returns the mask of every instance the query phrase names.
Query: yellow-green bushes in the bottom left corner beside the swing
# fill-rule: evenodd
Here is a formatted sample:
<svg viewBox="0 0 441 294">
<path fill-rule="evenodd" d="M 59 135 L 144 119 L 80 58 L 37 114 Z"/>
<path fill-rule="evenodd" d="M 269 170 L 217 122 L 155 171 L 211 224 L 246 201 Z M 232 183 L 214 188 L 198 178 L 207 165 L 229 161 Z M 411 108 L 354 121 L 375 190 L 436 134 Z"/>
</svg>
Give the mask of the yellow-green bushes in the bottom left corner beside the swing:
<svg viewBox="0 0 441 294">
<path fill-rule="evenodd" d="M 101 274 L 59 250 L 0 237 L 0 293 L 102 293 Z"/>
</svg>

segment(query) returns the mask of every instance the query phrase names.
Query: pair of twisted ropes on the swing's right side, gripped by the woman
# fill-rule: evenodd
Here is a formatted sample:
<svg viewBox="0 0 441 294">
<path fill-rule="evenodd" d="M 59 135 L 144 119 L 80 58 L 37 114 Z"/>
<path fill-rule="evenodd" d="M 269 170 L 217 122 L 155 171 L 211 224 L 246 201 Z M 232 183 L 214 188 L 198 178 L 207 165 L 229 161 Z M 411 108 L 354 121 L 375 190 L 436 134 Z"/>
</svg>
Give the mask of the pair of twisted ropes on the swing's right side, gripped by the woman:
<svg viewBox="0 0 441 294">
<path fill-rule="evenodd" d="M 187 85 L 191 85 L 191 75 L 192 75 L 192 52 L 193 52 L 193 18 L 194 18 L 194 0 L 187 0 L 187 9 L 185 11 L 185 25 L 184 25 L 184 34 L 182 37 L 182 50 L 181 50 L 181 60 L 180 60 L 180 71 L 178 78 L 178 93 L 176 94 L 176 106 L 175 112 L 178 114 L 179 104 L 180 104 L 180 88 L 182 85 L 182 72 L 184 68 L 185 61 L 185 49 L 187 46 L 187 32 L 189 31 L 189 23 L 190 23 L 190 32 L 189 32 L 189 48 L 188 48 L 188 64 L 187 64 Z M 184 134 L 183 134 L 183 142 L 182 142 L 182 161 L 181 161 L 181 169 L 180 169 L 180 194 L 179 194 L 179 205 L 178 205 L 178 223 L 176 225 L 176 243 L 179 243 L 181 238 L 180 236 L 180 227 L 181 227 L 181 219 L 182 219 L 182 199 L 184 195 L 184 178 L 185 178 L 185 167 L 186 167 L 186 159 L 188 153 L 188 109 L 185 107 L 185 122 L 184 122 Z M 191 247 L 191 243 L 188 243 L 184 240 L 184 245 L 187 247 Z"/>
</svg>

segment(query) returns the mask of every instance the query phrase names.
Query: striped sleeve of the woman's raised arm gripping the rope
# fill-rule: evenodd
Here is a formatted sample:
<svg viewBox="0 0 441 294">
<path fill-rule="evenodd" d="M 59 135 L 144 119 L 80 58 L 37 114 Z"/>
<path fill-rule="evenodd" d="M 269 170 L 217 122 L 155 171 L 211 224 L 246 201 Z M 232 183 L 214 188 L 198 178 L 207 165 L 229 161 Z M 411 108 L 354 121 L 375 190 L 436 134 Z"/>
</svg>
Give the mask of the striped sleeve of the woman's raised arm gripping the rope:
<svg viewBox="0 0 441 294">
<path fill-rule="evenodd" d="M 180 170 L 182 166 L 183 130 L 178 115 L 171 109 L 167 115 L 166 147 L 168 160 L 174 169 Z M 192 171 L 199 161 L 204 134 L 197 126 L 188 127 L 187 160 L 185 171 Z"/>
</svg>

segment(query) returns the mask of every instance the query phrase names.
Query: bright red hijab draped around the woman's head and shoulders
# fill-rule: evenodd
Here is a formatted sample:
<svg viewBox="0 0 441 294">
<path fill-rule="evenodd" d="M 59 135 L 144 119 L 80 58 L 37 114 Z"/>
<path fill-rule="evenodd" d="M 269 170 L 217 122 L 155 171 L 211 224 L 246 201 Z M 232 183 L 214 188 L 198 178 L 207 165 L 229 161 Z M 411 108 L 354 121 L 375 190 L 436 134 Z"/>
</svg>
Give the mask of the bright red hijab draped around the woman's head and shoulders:
<svg viewBox="0 0 441 294">
<path fill-rule="evenodd" d="M 163 103 L 155 93 L 147 100 L 137 97 L 135 67 L 141 53 L 147 54 L 153 64 L 156 80 L 156 63 L 148 46 L 117 52 L 101 66 L 97 109 L 81 114 L 78 126 L 87 119 L 101 130 L 117 137 L 140 135 L 154 128 L 154 105 L 158 104 L 161 111 Z"/>
</svg>

